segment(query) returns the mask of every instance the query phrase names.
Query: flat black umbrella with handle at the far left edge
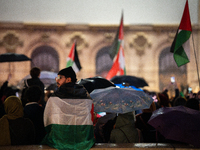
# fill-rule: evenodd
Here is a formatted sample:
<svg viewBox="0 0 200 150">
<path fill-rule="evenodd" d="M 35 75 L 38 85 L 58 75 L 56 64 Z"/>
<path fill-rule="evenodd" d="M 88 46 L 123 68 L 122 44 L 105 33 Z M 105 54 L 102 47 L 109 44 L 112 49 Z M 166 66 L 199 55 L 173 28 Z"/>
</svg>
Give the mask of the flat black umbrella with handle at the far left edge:
<svg viewBox="0 0 200 150">
<path fill-rule="evenodd" d="M 30 61 L 24 54 L 16 54 L 16 53 L 4 53 L 0 55 L 0 62 L 18 62 L 18 61 Z M 9 63 L 9 72 L 10 72 L 10 63 Z"/>
</svg>

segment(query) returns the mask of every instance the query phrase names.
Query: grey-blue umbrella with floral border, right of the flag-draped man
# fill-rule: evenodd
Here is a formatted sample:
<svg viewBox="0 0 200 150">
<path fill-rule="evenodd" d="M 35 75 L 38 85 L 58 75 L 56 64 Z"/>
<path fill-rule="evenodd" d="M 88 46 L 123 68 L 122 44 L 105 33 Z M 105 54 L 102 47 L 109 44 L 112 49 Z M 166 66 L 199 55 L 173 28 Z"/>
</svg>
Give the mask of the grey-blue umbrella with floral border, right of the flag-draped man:
<svg viewBox="0 0 200 150">
<path fill-rule="evenodd" d="M 127 113 L 149 108 L 153 102 L 151 96 L 132 88 L 96 89 L 90 96 L 93 99 L 95 112 Z"/>
</svg>

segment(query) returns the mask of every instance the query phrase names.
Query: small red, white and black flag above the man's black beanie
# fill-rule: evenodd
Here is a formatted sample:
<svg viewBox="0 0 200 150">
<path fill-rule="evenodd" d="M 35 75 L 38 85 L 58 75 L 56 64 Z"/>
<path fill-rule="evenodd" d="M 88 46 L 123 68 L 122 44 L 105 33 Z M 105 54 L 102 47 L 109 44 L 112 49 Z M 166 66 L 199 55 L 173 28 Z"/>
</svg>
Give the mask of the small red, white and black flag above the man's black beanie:
<svg viewBox="0 0 200 150">
<path fill-rule="evenodd" d="M 66 67 L 70 67 L 70 66 L 72 66 L 72 68 L 74 69 L 74 71 L 76 73 L 79 72 L 82 68 L 81 64 L 79 62 L 78 53 L 76 50 L 76 42 L 73 43 L 70 53 L 67 57 L 67 66 Z"/>
</svg>

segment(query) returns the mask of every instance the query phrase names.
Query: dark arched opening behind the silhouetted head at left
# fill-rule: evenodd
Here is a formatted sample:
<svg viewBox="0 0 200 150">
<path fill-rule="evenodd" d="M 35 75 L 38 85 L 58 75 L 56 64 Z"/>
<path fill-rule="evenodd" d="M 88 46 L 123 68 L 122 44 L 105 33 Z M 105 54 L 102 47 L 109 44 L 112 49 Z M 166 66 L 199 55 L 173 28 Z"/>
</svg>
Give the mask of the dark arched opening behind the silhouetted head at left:
<svg viewBox="0 0 200 150">
<path fill-rule="evenodd" d="M 58 72 L 59 57 L 56 50 L 50 46 L 37 47 L 32 55 L 32 67 L 39 67 L 41 70 Z"/>
</svg>

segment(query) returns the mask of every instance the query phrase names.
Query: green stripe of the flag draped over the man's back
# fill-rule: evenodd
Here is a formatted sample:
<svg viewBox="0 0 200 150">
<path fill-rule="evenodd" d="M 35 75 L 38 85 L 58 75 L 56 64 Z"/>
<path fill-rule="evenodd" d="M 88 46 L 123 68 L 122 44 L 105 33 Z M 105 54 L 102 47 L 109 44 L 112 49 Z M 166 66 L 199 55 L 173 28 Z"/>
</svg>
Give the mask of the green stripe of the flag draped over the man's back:
<svg viewBox="0 0 200 150">
<path fill-rule="evenodd" d="M 95 143 L 92 125 L 51 124 L 45 129 L 49 134 L 42 143 L 59 150 L 89 150 Z"/>
</svg>

